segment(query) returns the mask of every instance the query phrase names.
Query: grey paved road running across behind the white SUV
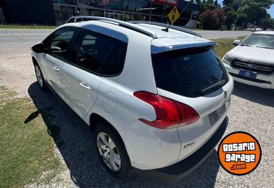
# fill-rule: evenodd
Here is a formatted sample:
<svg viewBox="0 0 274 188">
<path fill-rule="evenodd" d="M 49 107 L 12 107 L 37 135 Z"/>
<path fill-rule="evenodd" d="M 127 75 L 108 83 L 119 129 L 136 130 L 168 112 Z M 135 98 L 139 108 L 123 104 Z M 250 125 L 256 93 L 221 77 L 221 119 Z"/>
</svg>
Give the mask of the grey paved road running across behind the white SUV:
<svg viewBox="0 0 274 188">
<path fill-rule="evenodd" d="M 52 30 L 0 29 L 0 44 L 33 44 L 44 39 Z M 243 31 L 198 31 L 203 38 L 234 38 L 247 36 L 250 32 Z"/>
</svg>

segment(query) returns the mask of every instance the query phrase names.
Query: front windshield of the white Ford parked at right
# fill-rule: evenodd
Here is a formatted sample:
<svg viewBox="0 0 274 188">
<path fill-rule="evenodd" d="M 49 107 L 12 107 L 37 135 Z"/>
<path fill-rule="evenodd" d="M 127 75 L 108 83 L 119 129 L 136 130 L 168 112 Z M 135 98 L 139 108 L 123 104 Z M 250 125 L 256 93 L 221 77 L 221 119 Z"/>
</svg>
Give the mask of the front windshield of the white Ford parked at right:
<svg viewBox="0 0 274 188">
<path fill-rule="evenodd" d="M 252 34 L 241 43 L 241 46 L 274 49 L 274 35 Z"/>
</svg>

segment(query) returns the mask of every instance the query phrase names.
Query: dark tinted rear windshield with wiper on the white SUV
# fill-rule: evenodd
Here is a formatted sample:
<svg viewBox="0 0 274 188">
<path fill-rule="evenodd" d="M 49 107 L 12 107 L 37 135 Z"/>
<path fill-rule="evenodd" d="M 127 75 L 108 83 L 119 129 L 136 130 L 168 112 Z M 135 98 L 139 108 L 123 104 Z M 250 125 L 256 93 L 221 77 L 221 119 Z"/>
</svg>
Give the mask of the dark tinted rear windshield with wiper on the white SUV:
<svg viewBox="0 0 274 188">
<path fill-rule="evenodd" d="M 186 97 L 214 92 L 228 82 L 227 72 L 211 47 L 152 54 L 157 88 Z"/>
</svg>

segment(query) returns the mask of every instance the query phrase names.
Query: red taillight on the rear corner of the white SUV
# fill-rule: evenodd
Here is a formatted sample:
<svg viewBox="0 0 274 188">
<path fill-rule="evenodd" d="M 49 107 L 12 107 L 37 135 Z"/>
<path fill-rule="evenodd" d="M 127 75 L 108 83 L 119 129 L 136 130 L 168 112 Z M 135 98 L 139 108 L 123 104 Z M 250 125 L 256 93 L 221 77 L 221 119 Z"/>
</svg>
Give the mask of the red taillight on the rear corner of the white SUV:
<svg viewBox="0 0 274 188">
<path fill-rule="evenodd" d="M 199 119 L 199 114 L 190 106 L 146 91 L 137 91 L 135 97 L 153 106 L 156 112 L 156 120 L 140 121 L 161 129 L 175 128 L 188 125 Z"/>
</svg>

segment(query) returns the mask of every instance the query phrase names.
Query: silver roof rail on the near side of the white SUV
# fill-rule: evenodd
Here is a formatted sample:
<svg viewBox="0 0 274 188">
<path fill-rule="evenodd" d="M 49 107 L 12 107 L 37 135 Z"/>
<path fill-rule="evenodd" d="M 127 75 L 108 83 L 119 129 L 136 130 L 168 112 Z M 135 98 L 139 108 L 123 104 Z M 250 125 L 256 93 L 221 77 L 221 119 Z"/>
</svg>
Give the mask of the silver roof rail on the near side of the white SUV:
<svg viewBox="0 0 274 188">
<path fill-rule="evenodd" d="M 69 20 L 72 19 L 72 18 L 74 18 L 74 22 L 77 22 L 77 18 L 88 19 L 87 21 L 89 21 L 89 20 L 109 21 L 109 22 L 117 23 L 121 27 L 125 27 L 125 28 L 128 28 L 128 29 L 134 30 L 136 32 L 142 33 L 144 35 L 147 35 L 151 38 L 157 38 L 157 34 L 154 31 L 150 31 L 148 29 L 143 28 L 142 26 L 138 26 L 136 24 L 131 24 L 131 23 L 128 23 L 128 22 L 120 21 L 120 20 L 115 20 L 115 19 L 111 19 L 111 18 L 104 18 L 104 17 L 98 17 L 98 16 L 73 16 L 73 17 L 69 18 Z M 67 21 L 67 23 L 68 23 L 68 21 Z"/>
</svg>

